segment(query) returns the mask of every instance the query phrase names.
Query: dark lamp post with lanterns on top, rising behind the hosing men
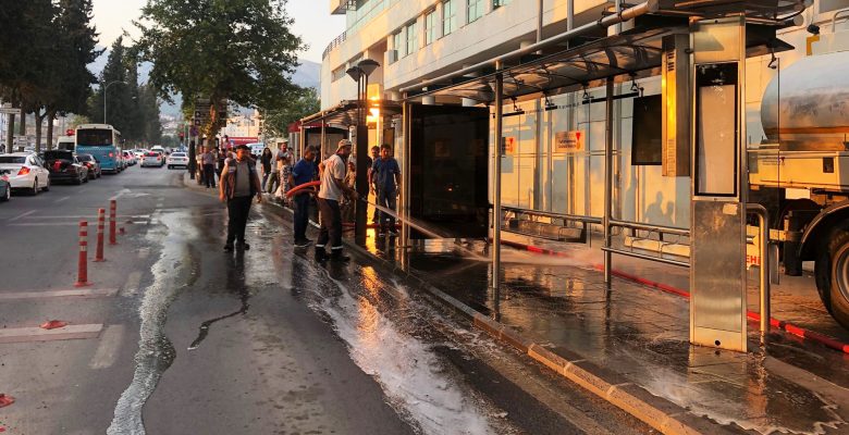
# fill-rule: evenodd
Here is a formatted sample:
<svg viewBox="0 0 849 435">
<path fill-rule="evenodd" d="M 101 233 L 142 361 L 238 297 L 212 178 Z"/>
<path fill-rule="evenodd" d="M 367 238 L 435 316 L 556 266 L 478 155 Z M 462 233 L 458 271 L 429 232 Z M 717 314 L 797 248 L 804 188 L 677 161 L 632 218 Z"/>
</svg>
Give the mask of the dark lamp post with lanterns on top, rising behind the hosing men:
<svg viewBox="0 0 849 435">
<path fill-rule="evenodd" d="M 357 194 L 360 198 L 368 198 L 369 195 L 369 181 L 368 181 L 368 152 L 369 152 L 369 126 L 366 114 L 368 113 L 368 92 L 369 92 L 369 76 L 380 66 L 380 63 L 371 60 L 364 59 L 356 66 L 352 66 L 346 71 L 348 76 L 357 82 Z M 357 244 L 366 243 L 366 220 L 368 216 L 368 201 L 357 201 L 356 207 L 356 226 L 354 229 L 354 238 Z"/>
</svg>

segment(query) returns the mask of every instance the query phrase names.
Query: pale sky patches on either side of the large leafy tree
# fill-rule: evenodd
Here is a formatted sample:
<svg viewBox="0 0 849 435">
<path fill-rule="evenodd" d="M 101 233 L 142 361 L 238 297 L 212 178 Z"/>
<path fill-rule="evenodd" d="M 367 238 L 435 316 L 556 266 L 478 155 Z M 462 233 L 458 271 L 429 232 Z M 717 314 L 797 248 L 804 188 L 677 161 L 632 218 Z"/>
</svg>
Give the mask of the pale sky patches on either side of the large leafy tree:
<svg viewBox="0 0 849 435">
<path fill-rule="evenodd" d="M 138 36 L 133 20 L 142 14 L 147 0 L 94 0 L 95 25 L 100 33 L 100 46 L 109 47 L 123 34 Z M 318 3 L 318 5 L 316 4 Z M 309 45 L 300 59 L 321 63 L 327 45 L 345 30 L 345 16 L 331 15 L 327 0 L 288 0 L 290 16 L 295 18 L 292 32 Z"/>
</svg>

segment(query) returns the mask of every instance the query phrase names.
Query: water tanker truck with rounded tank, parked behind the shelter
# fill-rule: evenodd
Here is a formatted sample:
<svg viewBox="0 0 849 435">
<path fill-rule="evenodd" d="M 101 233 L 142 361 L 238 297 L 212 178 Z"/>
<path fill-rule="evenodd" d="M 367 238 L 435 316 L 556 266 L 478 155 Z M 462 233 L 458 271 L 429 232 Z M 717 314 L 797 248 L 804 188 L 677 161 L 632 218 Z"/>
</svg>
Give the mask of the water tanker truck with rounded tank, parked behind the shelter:
<svg viewBox="0 0 849 435">
<path fill-rule="evenodd" d="M 849 51 L 783 69 L 761 122 L 766 138 L 749 149 L 750 200 L 771 210 L 785 273 L 814 262 L 823 304 L 849 328 Z"/>
</svg>

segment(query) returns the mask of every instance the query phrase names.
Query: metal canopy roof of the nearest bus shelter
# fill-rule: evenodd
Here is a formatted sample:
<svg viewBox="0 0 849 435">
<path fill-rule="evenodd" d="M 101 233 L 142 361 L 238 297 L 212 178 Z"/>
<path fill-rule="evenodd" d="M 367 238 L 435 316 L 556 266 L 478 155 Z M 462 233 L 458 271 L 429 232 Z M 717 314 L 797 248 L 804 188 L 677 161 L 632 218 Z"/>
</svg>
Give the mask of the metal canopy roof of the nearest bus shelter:
<svg viewBox="0 0 849 435">
<path fill-rule="evenodd" d="M 803 11 L 799 1 L 657 1 L 642 16 L 642 24 L 620 35 L 598 38 L 588 44 L 553 54 L 522 54 L 495 71 L 490 62 L 478 65 L 476 73 L 446 75 L 426 83 L 426 87 L 407 88 L 407 99 L 424 96 L 467 98 L 479 103 L 495 100 L 495 79 L 504 76 L 504 97 L 554 96 L 581 88 L 659 75 L 663 61 L 663 38 L 688 34 L 690 16 L 722 16 L 746 13 L 748 55 L 768 54 L 792 49 L 775 37 L 775 29 L 789 25 L 788 20 Z M 576 38 L 579 37 L 576 35 Z M 557 45 L 570 41 L 568 38 Z M 556 46 L 555 46 L 556 47 Z M 552 47 L 547 47 L 551 51 Z M 509 62 L 509 61 L 507 61 Z M 477 77 L 475 76 L 477 75 Z"/>
</svg>

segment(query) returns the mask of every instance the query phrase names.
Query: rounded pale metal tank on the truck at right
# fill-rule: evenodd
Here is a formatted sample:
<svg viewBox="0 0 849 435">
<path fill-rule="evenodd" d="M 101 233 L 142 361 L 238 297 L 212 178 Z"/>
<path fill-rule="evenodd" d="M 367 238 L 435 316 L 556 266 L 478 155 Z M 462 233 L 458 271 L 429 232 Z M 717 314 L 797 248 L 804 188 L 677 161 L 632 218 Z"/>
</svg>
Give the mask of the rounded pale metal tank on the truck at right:
<svg viewBox="0 0 849 435">
<path fill-rule="evenodd" d="M 771 141 L 780 133 L 783 148 L 846 150 L 849 51 L 802 58 L 783 69 L 766 87 L 761 122 Z"/>
</svg>

